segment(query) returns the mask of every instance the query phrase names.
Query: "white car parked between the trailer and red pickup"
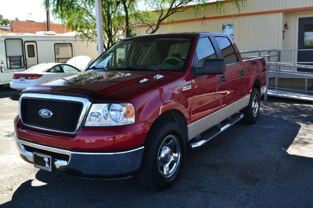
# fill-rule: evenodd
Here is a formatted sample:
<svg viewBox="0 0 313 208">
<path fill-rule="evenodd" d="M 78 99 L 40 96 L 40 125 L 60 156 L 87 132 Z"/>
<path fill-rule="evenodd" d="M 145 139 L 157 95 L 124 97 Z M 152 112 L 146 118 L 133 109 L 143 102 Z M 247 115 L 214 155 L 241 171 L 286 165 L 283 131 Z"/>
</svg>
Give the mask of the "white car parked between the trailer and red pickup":
<svg viewBox="0 0 313 208">
<path fill-rule="evenodd" d="M 89 57 L 88 57 L 89 58 Z M 67 63 L 41 63 L 30 67 L 29 69 L 15 73 L 12 77 L 10 87 L 12 89 L 24 90 L 39 83 L 64 77 L 73 73 L 84 71 L 90 58 L 74 57 Z M 75 64 L 76 63 L 76 64 Z M 77 66 L 74 67 L 73 65 Z"/>
</svg>

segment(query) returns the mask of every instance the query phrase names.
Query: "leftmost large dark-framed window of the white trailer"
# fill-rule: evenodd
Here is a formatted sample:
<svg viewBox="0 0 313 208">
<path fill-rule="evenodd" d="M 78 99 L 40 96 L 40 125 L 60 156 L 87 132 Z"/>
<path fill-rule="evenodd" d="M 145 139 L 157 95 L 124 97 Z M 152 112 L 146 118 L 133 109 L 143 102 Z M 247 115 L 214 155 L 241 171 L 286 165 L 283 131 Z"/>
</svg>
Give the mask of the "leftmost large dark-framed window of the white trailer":
<svg viewBox="0 0 313 208">
<path fill-rule="evenodd" d="M 24 53 L 22 39 L 5 39 L 6 62 L 9 69 L 24 67 Z"/>
</svg>

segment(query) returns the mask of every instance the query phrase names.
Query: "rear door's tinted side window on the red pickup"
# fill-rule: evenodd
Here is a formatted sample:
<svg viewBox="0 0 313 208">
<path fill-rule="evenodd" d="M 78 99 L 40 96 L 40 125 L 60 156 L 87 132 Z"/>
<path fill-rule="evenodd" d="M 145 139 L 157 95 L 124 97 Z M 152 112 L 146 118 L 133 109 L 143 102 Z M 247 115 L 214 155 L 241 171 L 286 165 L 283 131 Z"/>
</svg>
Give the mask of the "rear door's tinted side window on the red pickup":
<svg viewBox="0 0 313 208">
<path fill-rule="evenodd" d="M 237 63 L 238 59 L 236 56 L 236 52 L 235 52 L 231 42 L 228 40 L 228 38 L 226 38 L 226 37 L 215 37 L 215 39 L 218 42 L 218 44 L 222 50 L 222 54 L 224 56 L 226 65 L 231 64 L 231 63 Z"/>
</svg>

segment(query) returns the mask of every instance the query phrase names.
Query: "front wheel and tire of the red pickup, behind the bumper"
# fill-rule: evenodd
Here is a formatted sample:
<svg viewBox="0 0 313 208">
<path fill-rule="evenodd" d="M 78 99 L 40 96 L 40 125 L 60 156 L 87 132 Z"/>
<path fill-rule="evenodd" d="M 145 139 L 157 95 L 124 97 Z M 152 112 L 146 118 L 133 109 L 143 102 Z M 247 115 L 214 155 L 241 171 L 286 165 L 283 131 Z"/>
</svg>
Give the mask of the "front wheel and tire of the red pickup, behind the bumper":
<svg viewBox="0 0 313 208">
<path fill-rule="evenodd" d="M 134 178 L 144 187 L 167 189 L 179 178 L 185 154 L 183 129 L 173 122 L 159 122 L 147 136 L 141 167 Z"/>
</svg>

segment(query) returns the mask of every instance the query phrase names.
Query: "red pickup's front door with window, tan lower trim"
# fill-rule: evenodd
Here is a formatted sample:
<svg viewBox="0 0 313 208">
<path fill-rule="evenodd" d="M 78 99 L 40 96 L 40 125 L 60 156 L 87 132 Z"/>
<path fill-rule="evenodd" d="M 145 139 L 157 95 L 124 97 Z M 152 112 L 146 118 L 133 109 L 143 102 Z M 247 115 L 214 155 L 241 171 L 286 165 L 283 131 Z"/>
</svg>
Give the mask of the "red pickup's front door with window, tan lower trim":
<svg viewBox="0 0 313 208">
<path fill-rule="evenodd" d="M 216 59 L 217 53 L 211 42 L 211 37 L 202 37 L 197 44 L 194 67 L 203 67 L 207 59 Z M 223 75 L 204 75 L 193 81 L 195 132 L 201 133 L 216 125 L 224 118 L 221 109 L 222 99 L 226 93 L 226 83 L 221 83 Z M 222 119 L 223 120 L 223 119 Z"/>
</svg>

